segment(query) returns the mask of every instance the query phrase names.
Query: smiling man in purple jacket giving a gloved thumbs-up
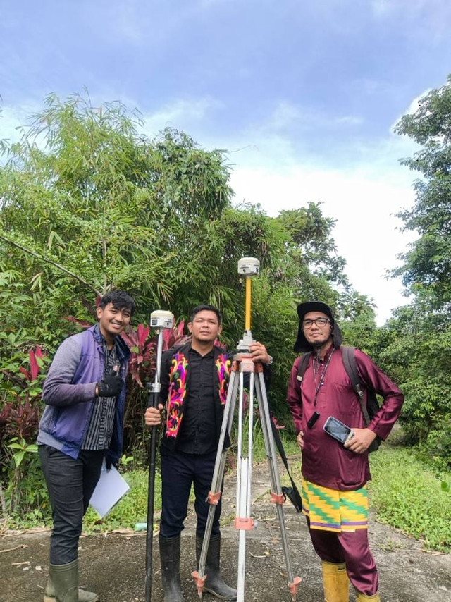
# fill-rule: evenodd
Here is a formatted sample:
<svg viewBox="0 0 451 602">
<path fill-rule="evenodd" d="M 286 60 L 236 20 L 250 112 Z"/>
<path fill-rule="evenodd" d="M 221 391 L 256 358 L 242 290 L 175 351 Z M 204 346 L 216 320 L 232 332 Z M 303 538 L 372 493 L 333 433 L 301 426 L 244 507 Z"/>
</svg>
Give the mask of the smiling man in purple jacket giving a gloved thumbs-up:
<svg viewBox="0 0 451 602">
<path fill-rule="evenodd" d="M 102 462 L 111 468 L 122 450 L 130 351 L 118 335 L 134 309 L 122 290 L 104 295 L 98 323 L 61 343 L 44 382 L 37 443 L 54 522 L 44 602 L 98 599 L 78 589 L 78 539 Z"/>
</svg>

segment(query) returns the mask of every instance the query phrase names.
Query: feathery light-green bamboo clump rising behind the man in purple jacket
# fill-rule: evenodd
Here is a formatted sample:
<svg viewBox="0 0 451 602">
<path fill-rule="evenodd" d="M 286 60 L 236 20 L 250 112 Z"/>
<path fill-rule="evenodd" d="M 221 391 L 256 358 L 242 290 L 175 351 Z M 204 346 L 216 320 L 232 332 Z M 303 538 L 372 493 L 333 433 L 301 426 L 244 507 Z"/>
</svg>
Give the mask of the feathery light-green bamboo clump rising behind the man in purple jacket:
<svg viewBox="0 0 451 602">
<path fill-rule="evenodd" d="M 21 142 L 3 144 L 1 250 L 52 307 L 63 283 L 66 295 L 126 288 L 161 305 L 192 233 L 230 204 L 219 152 L 171 130 L 147 140 L 139 125 L 119 103 L 50 96 Z"/>
</svg>

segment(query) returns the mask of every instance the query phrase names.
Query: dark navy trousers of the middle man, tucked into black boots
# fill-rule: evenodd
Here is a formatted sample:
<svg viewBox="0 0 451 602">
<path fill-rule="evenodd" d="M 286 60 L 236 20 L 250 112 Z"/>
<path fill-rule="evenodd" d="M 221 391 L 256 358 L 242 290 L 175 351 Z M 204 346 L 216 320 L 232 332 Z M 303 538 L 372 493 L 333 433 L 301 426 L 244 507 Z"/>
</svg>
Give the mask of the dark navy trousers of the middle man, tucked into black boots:
<svg viewBox="0 0 451 602">
<path fill-rule="evenodd" d="M 199 537 L 204 536 L 210 508 L 206 498 L 211 489 L 215 460 L 216 451 L 197 455 L 161 450 L 160 534 L 162 537 L 175 537 L 182 532 L 192 484 L 196 496 L 194 502 L 194 510 L 197 514 L 196 534 Z M 219 534 L 220 516 L 221 500 L 216 506 L 212 535 Z"/>
</svg>

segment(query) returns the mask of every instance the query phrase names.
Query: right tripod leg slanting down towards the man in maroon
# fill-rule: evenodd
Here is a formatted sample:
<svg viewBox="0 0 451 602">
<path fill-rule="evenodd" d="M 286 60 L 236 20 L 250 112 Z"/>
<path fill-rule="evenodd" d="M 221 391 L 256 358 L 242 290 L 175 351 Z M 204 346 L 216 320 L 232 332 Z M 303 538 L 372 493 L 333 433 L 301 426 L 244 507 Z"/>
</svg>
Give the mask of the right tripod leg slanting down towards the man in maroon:
<svg viewBox="0 0 451 602">
<path fill-rule="evenodd" d="M 255 386 L 257 391 L 257 399 L 259 403 L 261 428 L 264 434 L 266 456 L 268 457 L 268 466 L 271 477 L 271 494 L 273 496 L 273 499 L 271 501 L 276 503 L 278 521 L 280 525 L 280 536 L 282 538 L 283 552 L 285 554 L 285 563 L 287 565 L 287 573 L 289 579 L 288 589 L 290 589 L 292 601 L 295 601 L 297 588 L 299 586 L 299 583 L 301 582 L 301 579 L 299 577 L 294 576 L 290 557 L 290 548 L 288 548 L 288 537 L 285 529 L 285 520 L 283 518 L 283 502 L 285 500 L 283 498 L 282 487 L 280 486 L 280 474 L 276 457 L 276 445 L 274 443 L 273 431 L 271 429 L 271 415 L 269 413 L 268 398 L 266 395 L 266 387 L 262 372 L 259 372 Z"/>
</svg>

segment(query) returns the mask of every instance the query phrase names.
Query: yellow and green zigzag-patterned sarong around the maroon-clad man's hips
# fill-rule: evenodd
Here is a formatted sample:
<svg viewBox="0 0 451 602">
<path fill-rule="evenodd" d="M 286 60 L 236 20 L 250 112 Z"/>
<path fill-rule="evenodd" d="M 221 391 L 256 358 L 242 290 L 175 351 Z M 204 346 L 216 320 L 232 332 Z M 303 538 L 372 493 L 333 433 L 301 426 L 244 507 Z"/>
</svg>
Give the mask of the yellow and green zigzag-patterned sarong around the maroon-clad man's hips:
<svg viewBox="0 0 451 602">
<path fill-rule="evenodd" d="M 302 477 L 301 496 L 302 512 L 309 517 L 311 529 L 352 532 L 368 528 L 366 485 L 355 491 L 337 491 Z"/>
</svg>

